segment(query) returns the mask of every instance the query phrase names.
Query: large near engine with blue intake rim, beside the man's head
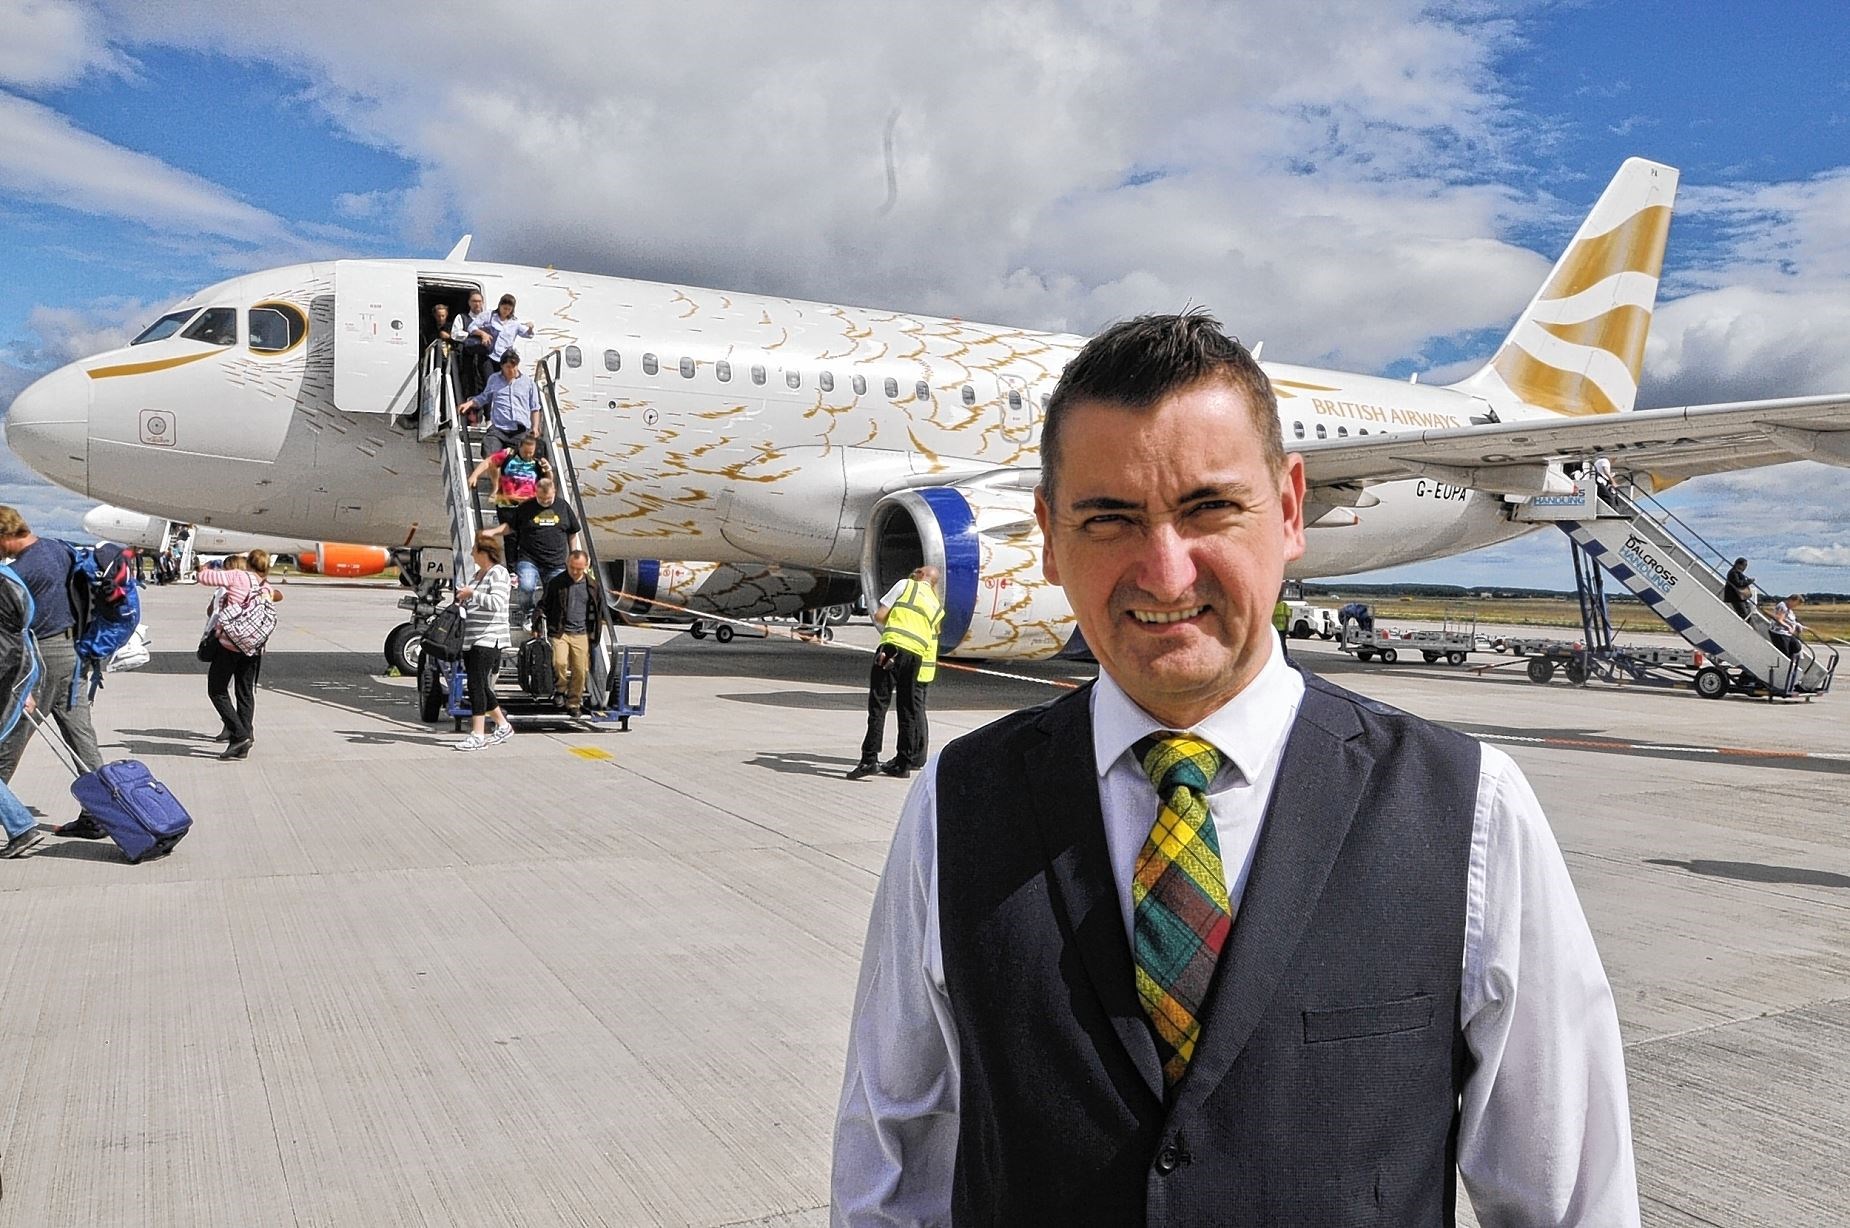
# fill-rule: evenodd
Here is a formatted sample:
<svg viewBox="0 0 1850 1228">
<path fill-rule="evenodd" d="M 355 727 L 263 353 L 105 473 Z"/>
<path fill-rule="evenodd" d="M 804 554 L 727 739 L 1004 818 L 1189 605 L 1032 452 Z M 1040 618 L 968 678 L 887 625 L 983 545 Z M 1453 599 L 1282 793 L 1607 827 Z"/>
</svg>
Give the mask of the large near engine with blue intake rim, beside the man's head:
<svg viewBox="0 0 1850 1228">
<path fill-rule="evenodd" d="M 912 568 L 944 575 L 945 657 L 1038 660 L 1058 653 L 1077 623 L 1066 590 L 1042 577 L 1034 488 L 1019 473 L 956 486 L 921 486 L 873 505 L 860 583 L 871 607 Z"/>
</svg>

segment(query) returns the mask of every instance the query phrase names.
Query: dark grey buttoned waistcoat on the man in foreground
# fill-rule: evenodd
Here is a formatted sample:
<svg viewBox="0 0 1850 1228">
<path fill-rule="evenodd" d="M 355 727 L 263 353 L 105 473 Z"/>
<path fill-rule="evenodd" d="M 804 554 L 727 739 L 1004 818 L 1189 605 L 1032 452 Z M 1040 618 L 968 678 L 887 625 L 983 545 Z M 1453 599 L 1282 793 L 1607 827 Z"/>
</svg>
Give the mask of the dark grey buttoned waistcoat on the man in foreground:
<svg viewBox="0 0 1850 1228">
<path fill-rule="evenodd" d="M 945 747 L 953 1222 L 1452 1224 L 1478 758 L 1469 738 L 1306 677 L 1201 1045 L 1166 1102 L 1090 690 Z"/>
</svg>

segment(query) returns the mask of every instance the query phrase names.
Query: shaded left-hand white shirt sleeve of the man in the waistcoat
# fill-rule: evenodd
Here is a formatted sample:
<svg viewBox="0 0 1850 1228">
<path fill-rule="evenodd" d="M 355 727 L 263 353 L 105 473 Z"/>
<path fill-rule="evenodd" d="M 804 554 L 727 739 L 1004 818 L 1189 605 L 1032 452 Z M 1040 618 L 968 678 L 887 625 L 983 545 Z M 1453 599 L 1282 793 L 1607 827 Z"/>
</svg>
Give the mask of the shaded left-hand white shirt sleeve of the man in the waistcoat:
<svg viewBox="0 0 1850 1228">
<path fill-rule="evenodd" d="M 947 1224 L 958 1052 L 938 938 L 936 758 L 914 782 L 873 897 L 834 1123 L 836 1228 Z"/>
</svg>

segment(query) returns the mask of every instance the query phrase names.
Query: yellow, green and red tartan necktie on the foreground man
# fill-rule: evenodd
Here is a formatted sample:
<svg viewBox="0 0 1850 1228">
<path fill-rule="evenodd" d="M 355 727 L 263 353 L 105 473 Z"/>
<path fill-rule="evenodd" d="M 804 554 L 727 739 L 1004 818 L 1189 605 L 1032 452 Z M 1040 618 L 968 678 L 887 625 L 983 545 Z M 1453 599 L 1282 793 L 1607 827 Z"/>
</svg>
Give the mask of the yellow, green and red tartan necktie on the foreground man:
<svg viewBox="0 0 1850 1228">
<path fill-rule="evenodd" d="M 1132 753 L 1156 786 L 1156 823 L 1130 878 L 1138 999 L 1156 1036 L 1164 1087 L 1182 1082 L 1214 965 L 1234 927 L 1208 784 L 1221 753 L 1188 734 L 1151 734 Z"/>
</svg>

